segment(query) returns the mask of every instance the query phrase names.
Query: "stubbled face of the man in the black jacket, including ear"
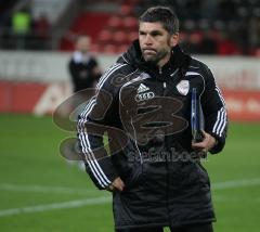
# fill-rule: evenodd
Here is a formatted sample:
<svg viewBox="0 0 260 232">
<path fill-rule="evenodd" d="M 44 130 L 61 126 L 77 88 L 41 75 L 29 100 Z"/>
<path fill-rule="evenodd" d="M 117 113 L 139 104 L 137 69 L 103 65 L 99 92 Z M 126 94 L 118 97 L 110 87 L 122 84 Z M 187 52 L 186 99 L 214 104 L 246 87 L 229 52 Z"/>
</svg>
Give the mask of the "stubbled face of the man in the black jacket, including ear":
<svg viewBox="0 0 260 232">
<path fill-rule="evenodd" d="M 170 59 L 171 48 L 178 42 L 178 34 L 171 36 L 160 23 L 141 22 L 139 42 L 144 60 L 162 66 Z"/>
</svg>

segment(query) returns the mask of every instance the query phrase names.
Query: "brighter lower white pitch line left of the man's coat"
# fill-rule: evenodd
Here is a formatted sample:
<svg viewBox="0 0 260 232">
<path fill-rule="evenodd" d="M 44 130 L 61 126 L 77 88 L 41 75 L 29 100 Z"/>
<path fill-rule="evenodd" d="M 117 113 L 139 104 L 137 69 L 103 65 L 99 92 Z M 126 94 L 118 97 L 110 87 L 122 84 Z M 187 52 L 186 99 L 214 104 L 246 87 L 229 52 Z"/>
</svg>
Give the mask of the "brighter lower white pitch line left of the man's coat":
<svg viewBox="0 0 260 232">
<path fill-rule="evenodd" d="M 50 210 L 56 210 L 56 209 L 63 209 L 63 208 L 79 208 L 87 205 L 98 205 L 98 204 L 105 204 L 109 202 L 110 202 L 110 197 L 106 196 L 106 197 L 96 197 L 96 198 L 89 198 L 89 199 L 76 199 L 76 201 L 63 202 L 63 203 L 53 203 L 53 204 L 47 204 L 47 205 L 36 205 L 36 206 L 28 206 L 28 207 L 22 207 L 22 208 L 10 208 L 10 209 L 0 210 L 0 217 L 50 211 Z"/>
</svg>

